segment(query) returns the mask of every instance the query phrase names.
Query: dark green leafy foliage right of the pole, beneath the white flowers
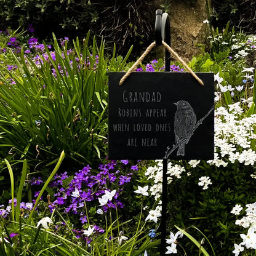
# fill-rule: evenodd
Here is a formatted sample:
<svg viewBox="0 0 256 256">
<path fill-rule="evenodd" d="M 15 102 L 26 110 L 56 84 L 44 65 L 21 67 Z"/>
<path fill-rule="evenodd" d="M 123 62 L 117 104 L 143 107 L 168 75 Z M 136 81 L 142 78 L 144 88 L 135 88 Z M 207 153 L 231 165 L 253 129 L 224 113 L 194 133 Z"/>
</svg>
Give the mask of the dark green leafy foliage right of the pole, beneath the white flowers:
<svg viewBox="0 0 256 256">
<path fill-rule="evenodd" d="M 210 176 L 216 186 L 202 190 L 197 184 L 202 175 Z M 242 229 L 234 226 L 236 218 L 230 211 L 235 204 L 242 202 L 246 205 L 256 198 L 255 191 L 247 193 L 255 186 L 255 180 L 249 180 L 249 176 L 250 167 L 234 169 L 230 164 L 217 169 L 204 163 L 204 166 L 194 169 L 191 176 L 184 175 L 181 180 L 174 180 L 168 196 L 171 200 L 168 205 L 170 230 L 173 230 L 173 223 L 183 228 L 194 225 L 209 238 L 216 255 L 222 255 L 222 252 L 233 255 L 230 246 L 237 238 L 236 232 L 242 233 Z M 195 231 L 189 233 L 198 238 Z M 204 247 L 210 252 L 209 244 Z"/>
</svg>

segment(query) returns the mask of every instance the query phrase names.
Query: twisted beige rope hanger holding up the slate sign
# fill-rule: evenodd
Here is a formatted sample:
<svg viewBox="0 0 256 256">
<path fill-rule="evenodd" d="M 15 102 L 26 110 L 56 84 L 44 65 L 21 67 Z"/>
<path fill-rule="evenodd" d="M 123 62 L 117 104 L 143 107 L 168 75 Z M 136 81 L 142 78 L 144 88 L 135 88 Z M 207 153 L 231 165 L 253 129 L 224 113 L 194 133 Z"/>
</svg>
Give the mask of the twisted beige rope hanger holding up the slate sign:
<svg viewBox="0 0 256 256">
<path fill-rule="evenodd" d="M 166 49 L 174 55 L 174 57 L 180 62 L 182 63 L 183 66 L 185 66 L 186 70 L 188 72 L 190 72 L 192 74 L 192 76 L 194 76 L 194 78 L 196 78 L 196 80 L 199 82 L 199 84 L 201 84 L 201 86 L 204 86 L 204 82 L 202 82 L 202 80 L 196 75 L 196 73 L 194 73 L 193 70 L 191 70 L 191 68 L 186 65 L 186 63 L 184 62 L 184 60 L 182 60 L 182 58 L 180 56 L 178 56 L 178 54 L 170 47 L 168 46 L 168 44 L 166 44 L 166 42 L 162 41 L 162 45 L 164 47 L 166 47 Z M 124 76 L 121 78 L 119 85 L 121 86 L 121 84 L 126 80 L 126 78 L 128 76 L 130 76 L 130 74 L 136 70 L 137 66 L 142 63 L 142 60 L 146 57 L 146 55 L 150 52 L 151 49 L 153 49 L 153 47 L 156 46 L 156 42 L 152 42 L 150 44 L 150 46 L 148 46 L 148 48 L 146 48 L 145 52 L 143 52 L 143 54 L 140 56 L 140 58 L 138 58 L 138 60 L 134 63 L 134 65 L 132 65 L 130 67 L 130 69 L 126 72 L 126 74 L 124 74 Z"/>
</svg>

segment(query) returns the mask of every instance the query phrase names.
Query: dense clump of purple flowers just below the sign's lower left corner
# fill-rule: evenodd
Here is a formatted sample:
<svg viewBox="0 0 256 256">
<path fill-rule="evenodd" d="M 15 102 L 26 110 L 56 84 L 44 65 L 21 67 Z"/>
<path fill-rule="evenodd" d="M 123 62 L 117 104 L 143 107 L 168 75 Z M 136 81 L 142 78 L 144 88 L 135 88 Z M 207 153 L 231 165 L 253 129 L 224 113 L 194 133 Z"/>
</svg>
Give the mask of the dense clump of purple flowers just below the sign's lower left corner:
<svg viewBox="0 0 256 256">
<path fill-rule="evenodd" d="M 63 182 L 70 178 L 67 172 L 60 175 L 55 175 L 54 181 L 50 183 L 50 187 L 56 191 L 55 201 L 50 205 L 50 209 L 54 207 L 64 206 L 64 211 L 71 212 L 72 214 L 78 214 L 81 216 L 82 223 L 87 222 L 85 217 L 85 203 L 98 201 L 106 194 L 106 191 L 111 192 L 111 187 L 114 187 L 116 183 L 119 185 L 119 189 L 113 195 L 113 199 L 108 199 L 106 204 L 102 206 L 103 212 L 108 212 L 110 209 L 123 208 L 124 205 L 119 200 L 119 195 L 122 193 L 122 185 L 129 183 L 133 175 L 132 172 L 123 175 L 120 170 L 116 170 L 118 165 L 117 161 L 110 161 L 108 164 L 100 164 L 98 167 L 100 172 L 92 172 L 91 167 L 85 166 L 82 170 L 76 172 L 73 178 L 70 180 L 68 186 L 63 186 Z M 134 166 L 130 167 L 131 170 L 136 170 Z M 72 194 L 78 191 L 79 196 L 72 196 Z"/>
</svg>

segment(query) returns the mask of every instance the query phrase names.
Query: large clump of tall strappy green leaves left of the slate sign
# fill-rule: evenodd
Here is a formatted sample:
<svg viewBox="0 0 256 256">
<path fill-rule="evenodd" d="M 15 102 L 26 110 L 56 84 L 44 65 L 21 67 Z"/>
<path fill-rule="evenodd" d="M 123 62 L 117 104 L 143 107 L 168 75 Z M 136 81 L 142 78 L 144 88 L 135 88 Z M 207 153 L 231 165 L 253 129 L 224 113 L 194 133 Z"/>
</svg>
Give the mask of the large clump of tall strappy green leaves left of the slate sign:
<svg viewBox="0 0 256 256">
<path fill-rule="evenodd" d="M 54 52 L 45 46 L 38 63 L 22 50 L 14 55 L 16 72 L 1 68 L 1 158 L 10 164 L 27 158 L 36 166 L 54 163 L 64 150 L 66 167 L 74 169 L 105 157 L 106 70 L 115 69 L 114 55 L 107 65 L 104 42 L 98 47 L 94 39 L 89 47 L 88 41 L 89 34 L 83 46 L 73 41 L 68 50 L 54 37 Z"/>
</svg>

